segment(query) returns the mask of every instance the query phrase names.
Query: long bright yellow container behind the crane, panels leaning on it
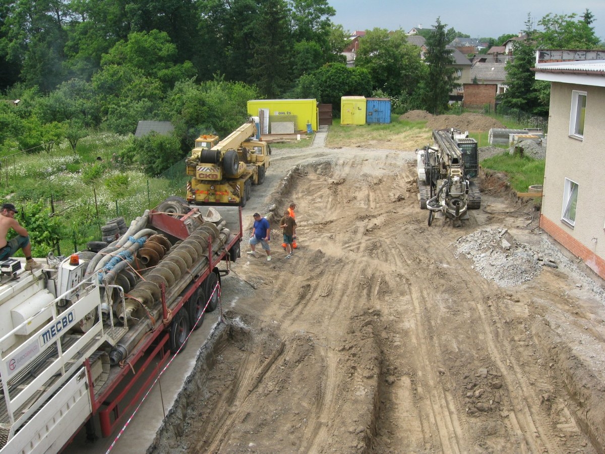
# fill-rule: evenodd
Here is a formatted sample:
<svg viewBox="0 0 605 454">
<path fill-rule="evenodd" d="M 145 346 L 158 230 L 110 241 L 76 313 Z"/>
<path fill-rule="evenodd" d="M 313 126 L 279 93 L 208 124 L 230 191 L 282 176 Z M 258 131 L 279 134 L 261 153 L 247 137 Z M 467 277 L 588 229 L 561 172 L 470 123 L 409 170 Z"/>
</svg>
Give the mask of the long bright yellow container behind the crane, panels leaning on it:
<svg viewBox="0 0 605 454">
<path fill-rule="evenodd" d="M 252 99 L 247 110 L 250 116 L 260 118 L 261 134 L 272 133 L 270 123 L 281 121 L 294 123 L 295 133 L 318 130 L 316 99 Z"/>
</svg>

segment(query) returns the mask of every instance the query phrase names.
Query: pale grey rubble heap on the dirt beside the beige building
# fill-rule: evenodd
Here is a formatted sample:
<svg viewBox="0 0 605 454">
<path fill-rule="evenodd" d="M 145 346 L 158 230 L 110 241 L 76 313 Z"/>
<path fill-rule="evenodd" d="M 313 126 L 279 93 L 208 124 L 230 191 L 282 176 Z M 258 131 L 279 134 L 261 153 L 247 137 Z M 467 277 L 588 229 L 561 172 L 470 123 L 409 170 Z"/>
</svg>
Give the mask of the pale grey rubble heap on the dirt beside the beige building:
<svg viewBox="0 0 605 454">
<path fill-rule="evenodd" d="M 525 243 L 517 242 L 507 229 L 483 229 L 460 237 L 454 256 L 466 255 L 473 269 L 501 287 L 512 287 L 540 274 L 543 260 Z M 550 263 L 550 262 L 547 262 Z"/>
</svg>

